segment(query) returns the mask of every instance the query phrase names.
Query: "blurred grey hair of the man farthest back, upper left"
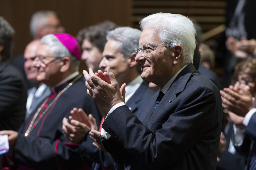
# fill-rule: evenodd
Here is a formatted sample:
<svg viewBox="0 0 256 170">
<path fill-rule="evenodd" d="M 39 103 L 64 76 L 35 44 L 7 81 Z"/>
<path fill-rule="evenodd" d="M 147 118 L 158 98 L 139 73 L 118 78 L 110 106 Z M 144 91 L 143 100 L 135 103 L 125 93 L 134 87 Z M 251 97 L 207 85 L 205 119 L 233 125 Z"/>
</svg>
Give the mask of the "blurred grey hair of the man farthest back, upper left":
<svg viewBox="0 0 256 170">
<path fill-rule="evenodd" d="M 30 33 L 34 38 L 37 38 L 38 28 L 47 25 L 47 17 L 49 16 L 57 17 L 57 14 L 54 11 L 37 11 L 33 14 L 30 21 Z"/>
</svg>

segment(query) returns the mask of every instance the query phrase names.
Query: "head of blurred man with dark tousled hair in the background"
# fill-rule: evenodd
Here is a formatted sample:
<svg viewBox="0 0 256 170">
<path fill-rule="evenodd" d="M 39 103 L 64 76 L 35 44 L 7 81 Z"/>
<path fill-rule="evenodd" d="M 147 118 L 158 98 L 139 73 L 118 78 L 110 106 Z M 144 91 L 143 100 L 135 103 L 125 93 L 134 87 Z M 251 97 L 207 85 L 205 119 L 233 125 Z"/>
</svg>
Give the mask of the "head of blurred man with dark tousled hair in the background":
<svg viewBox="0 0 256 170">
<path fill-rule="evenodd" d="M 101 70 L 99 64 L 103 59 L 102 53 L 107 42 L 107 34 L 116 27 L 114 22 L 104 21 L 79 31 L 77 37 L 82 48 L 81 59 L 85 61 L 87 68 L 91 68 L 93 72 Z"/>
</svg>

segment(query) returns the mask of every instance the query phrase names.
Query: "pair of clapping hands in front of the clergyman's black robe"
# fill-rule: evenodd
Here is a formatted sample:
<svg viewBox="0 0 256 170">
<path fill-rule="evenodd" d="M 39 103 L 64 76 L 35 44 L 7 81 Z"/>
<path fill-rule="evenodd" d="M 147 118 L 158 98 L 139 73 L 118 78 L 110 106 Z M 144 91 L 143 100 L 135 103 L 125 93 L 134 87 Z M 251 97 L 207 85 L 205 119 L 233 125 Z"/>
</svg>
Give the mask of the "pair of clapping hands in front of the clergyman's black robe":
<svg viewBox="0 0 256 170">
<path fill-rule="evenodd" d="M 78 110 L 77 108 L 74 108 L 70 111 L 70 113 L 72 115 L 69 116 L 71 124 L 69 123 L 68 119 L 64 117 L 62 121 L 62 130 L 67 139 L 69 139 L 72 143 L 79 144 L 81 143 L 83 137 L 91 130 L 91 123 L 82 109 Z"/>
</svg>

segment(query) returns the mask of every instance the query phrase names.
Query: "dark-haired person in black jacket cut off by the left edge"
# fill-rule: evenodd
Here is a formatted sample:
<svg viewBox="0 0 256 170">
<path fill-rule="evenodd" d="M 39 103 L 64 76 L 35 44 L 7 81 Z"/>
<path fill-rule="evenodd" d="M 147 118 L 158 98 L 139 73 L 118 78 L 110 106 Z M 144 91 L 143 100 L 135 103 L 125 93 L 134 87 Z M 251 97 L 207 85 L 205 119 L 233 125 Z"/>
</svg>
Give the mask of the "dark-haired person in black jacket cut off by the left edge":
<svg viewBox="0 0 256 170">
<path fill-rule="evenodd" d="M 14 33 L 12 26 L 0 17 L 0 131 L 17 131 L 26 114 L 25 79 L 22 73 L 7 62 L 12 51 Z M 2 167 L 2 155 L 0 165 Z"/>
</svg>

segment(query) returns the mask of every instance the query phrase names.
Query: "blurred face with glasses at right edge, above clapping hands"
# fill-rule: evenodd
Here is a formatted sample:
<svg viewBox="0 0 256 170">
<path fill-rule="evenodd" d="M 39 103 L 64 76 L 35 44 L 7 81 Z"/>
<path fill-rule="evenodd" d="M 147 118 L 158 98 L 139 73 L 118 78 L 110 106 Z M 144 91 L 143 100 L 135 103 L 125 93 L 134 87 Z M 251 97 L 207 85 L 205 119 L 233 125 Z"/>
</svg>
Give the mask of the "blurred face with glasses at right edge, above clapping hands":
<svg viewBox="0 0 256 170">
<path fill-rule="evenodd" d="M 237 87 L 238 89 L 245 88 L 251 92 L 252 96 L 255 96 L 255 82 L 247 74 L 239 75 L 238 81 L 236 82 L 234 87 Z"/>
</svg>

